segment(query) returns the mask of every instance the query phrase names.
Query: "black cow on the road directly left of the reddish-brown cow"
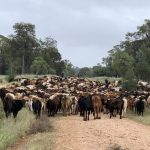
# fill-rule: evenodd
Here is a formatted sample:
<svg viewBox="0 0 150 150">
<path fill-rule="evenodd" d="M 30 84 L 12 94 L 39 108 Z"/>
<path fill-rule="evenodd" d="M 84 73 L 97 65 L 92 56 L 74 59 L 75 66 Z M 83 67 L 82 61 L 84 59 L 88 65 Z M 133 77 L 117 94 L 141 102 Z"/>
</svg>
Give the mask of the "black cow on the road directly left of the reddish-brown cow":
<svg viewBox="0 0 150 150">
<path fill-rule="evenodd" d="M 92 96 L 81 96 L 78 104 L 80 115 L 83 115 L 83 120 L 89 120 L 90 112 L 93 112 Z"/>
</svg>

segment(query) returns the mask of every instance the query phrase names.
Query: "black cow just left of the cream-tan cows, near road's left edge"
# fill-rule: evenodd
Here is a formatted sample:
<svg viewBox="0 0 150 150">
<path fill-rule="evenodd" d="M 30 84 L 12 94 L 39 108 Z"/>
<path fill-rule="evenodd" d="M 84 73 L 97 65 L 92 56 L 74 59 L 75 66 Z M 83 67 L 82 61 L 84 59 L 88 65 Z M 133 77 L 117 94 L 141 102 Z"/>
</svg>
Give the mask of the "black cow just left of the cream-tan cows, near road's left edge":
<svg viewBox="0 0 150 150">
<path fill-rule="evenodd" d="M 55 115 L 57 106 L 56 106 L 56 103 L 54 102 L 54 100 L 49 99 L 46 102 L 46 108 L 48 110 L 49 117 Z"/>
</svg>

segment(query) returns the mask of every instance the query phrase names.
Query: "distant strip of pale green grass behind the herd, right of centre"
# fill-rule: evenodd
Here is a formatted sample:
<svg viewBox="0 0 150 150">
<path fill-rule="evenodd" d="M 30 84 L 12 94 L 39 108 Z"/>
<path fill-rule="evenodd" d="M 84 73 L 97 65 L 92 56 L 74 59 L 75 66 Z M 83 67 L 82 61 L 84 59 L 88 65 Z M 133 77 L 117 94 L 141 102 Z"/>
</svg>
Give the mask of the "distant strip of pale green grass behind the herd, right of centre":
<svg viewBox="0 0 150 150">
<path fill-rule="evenodd" d="M 116 77 L 105 77 L 105 76 L 103 76 L 103 77 L 92 77 L 92 78 L 89 78 L 90 80 L 92 80 L 92 81 L 100 81 L 100 82 L 102 82 L 102 83 L 104 83 L 105 82 L 105 80 L 107 79 L 108 81 L 110 81 L 110 82 L 112 82 L 112 81 L 114 81 L 114 80 L 121 80 L 121 78 L 116 78 Z"/>
</svg>

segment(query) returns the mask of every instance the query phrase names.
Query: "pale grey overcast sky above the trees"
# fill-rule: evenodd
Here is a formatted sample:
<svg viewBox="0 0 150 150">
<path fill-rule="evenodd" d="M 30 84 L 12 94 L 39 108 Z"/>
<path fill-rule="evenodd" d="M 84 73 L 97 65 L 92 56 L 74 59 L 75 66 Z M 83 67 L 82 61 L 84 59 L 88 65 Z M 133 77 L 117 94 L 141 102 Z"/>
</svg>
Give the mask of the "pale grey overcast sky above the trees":
<svg viewBox="0 0 150 150">
<path fill-rule="evenodd" d="M 63 59 L 91 67 L 149 16 L 149 0 L 0 0 L 0 34 L 32 23 L 37 37 L 57 40 Z"/>
</svg>

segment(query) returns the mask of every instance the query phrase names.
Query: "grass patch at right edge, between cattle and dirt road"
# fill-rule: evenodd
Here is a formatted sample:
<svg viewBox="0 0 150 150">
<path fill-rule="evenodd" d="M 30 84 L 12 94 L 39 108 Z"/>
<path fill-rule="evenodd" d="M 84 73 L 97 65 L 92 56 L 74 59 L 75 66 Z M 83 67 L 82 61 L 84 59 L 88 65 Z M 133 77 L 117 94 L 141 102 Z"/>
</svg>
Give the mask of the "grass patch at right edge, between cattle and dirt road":
<svg viewBox="0 0 150 150">
<path fill-rule="evenodd" d="M 144 116 L 138 116 L 132 111 L 127 112 L 127 118 L 142 123 L 144 125 L 150 126 L 150 108 L 146 108 L 144 112 Z"/>
</svg>

